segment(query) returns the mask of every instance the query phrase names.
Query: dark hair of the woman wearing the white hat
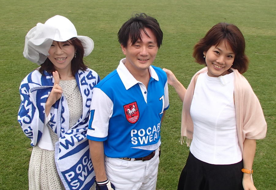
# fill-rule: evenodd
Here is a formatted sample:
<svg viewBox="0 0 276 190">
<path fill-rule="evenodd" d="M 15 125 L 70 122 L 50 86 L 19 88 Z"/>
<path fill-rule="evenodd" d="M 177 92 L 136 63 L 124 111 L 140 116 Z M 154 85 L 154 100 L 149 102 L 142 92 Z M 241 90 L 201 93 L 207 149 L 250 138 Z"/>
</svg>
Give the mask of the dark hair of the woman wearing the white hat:
<svg viewBox="0 0 276 190">
<path fill-rule="evenodd" d="M 83 63 L 83 55 L 84 55 L 84 46 L 81 40 L 78 38 L 74 37 L 71 38 L 70 40 L 67 40 L 66 42 L 72 44 L 76 50 L 76 57 L 73 57 L 71 61 L 71 72 L 72 75 L 75 76 L 75 74 L 78 72 L 78 70 L 86 70 L 87 66 Z M 59 47 L 60 44 L 57 42 Z M 47 58 L 44 63 L 40 65 L 38 68 L 39 72 L 43 74 L 43 70 L 46 70 L 48 73 L 52 73 L 55 71 L 54 64 L 50 61 L 49 58 Z"/>
</svg>

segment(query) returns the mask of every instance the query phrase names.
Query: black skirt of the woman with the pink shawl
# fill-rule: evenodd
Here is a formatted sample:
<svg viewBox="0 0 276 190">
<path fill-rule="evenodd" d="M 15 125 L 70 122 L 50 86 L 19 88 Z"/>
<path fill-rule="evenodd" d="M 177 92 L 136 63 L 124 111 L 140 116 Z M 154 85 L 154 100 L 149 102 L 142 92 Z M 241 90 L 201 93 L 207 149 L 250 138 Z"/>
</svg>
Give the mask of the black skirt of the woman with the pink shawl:
<svg viewBox="0 0 276 190">
<path fill-rule="evenodd" d="M 191 152 L 187 158 L 178 190 L 243 190 L 243 161 L 229 165 L 202 162 Z"/>
</svg>

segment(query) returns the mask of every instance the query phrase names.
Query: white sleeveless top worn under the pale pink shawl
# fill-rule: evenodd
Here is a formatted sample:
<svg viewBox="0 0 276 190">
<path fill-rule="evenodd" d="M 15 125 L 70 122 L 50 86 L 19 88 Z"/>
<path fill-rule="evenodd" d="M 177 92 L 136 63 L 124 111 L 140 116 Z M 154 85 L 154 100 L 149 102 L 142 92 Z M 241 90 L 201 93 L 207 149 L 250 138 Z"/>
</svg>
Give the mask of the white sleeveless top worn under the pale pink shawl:
<svg viewBox="0 0 276 190">
<path fill-rule="evenodd" d="M 199 74 L 190 110 L 194 123 L 190 151 L 203 162 L 226 165 L 242 160 L 233 96 L 234 73 Z"/>
</svg>

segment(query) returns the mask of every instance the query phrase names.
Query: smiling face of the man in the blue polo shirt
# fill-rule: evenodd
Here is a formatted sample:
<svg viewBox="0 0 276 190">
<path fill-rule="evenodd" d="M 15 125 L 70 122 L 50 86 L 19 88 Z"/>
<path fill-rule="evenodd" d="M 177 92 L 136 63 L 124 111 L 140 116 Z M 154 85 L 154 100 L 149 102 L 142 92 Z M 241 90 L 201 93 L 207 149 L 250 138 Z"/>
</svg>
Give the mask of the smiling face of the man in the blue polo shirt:
<svg viewBox="0 0 276 190">
<path fill-rule="evenodd" d="M 126 55 L 125 66 L 131 74 L 147 71 L 158 51 L 155 35 L 150 29 L 145 28 L 145 30 L 149 36 L 141 29 L 142 40 L 138 39 L 134 44 L 131 44 L 129 39 L 127 47 L 121 45 L 122 51 Z"/>
</svg>

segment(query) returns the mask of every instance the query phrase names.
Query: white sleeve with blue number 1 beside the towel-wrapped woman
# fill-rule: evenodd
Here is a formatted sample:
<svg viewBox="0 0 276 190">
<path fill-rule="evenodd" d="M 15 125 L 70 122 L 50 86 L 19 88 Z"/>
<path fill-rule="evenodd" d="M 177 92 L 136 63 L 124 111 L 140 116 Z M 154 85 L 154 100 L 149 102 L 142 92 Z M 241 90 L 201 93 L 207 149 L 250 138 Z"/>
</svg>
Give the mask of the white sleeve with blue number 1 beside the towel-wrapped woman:
<svg viewBox="0 0 276 190">
<path fill-rule="evenodd" d="M 105 141 L 108 136 L 108 123 L 112 116 L 113 102 L 99 88 L 93 89 L 90 107 L 87 139 Z"/>
</svg>

